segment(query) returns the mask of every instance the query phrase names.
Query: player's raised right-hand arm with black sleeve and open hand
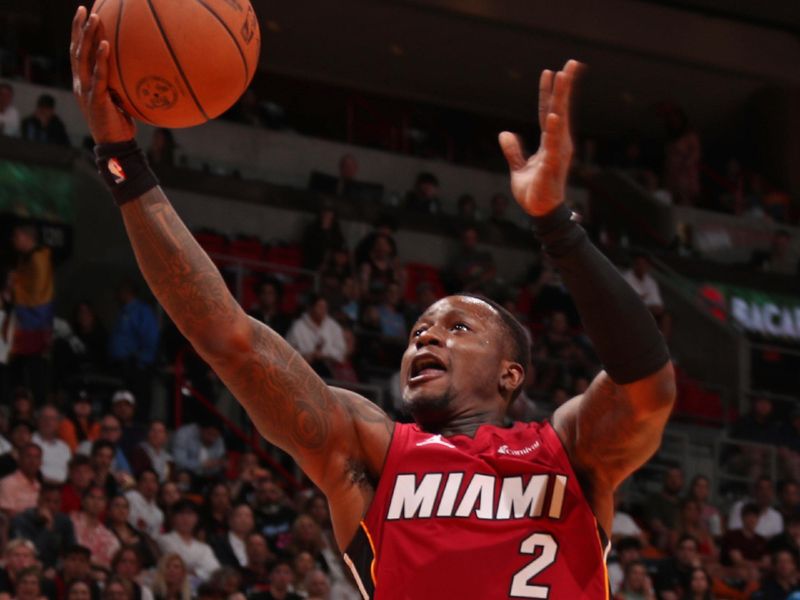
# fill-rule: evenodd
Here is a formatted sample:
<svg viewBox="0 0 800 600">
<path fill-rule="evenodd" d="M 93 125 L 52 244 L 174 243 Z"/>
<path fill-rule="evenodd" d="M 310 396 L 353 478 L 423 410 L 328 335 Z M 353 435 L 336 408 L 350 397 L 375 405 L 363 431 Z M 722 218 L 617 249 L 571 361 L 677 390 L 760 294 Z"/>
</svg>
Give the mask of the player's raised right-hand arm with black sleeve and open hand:
<svg viewBox="0 0 800 600">
<path fill-rule="evenodd" d="M 611 492 L 658 448 L 675 398 L 666 344 L 655 321 L 617 269 L 574 222 L 563 204 L 573 145 L 570 100 L 580 69 L 542 73 L 542 138 L 526 159 L 513 134 L 500 134 L 519 204 L 558 267 L 605 371 L 553 417 L 601 524 L 611 525 Z"/>
</svg>

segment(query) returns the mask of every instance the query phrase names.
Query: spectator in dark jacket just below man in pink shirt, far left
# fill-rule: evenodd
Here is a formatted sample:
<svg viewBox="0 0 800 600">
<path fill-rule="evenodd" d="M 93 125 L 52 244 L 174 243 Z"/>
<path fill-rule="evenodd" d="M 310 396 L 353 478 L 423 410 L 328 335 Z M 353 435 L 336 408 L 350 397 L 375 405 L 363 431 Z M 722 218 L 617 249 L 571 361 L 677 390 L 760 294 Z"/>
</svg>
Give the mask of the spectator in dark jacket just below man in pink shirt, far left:
<svg viewBox="0 0 800 600">
<path fill-rule="evenodd" d="M 54 568 L 66 549 L 75 543 L 72 521 L 61 513 L 61 489 L 43 485 L 36 506 L 11 521 L 10 536 L 32 541 L 44 568 Z"/>
</svg>

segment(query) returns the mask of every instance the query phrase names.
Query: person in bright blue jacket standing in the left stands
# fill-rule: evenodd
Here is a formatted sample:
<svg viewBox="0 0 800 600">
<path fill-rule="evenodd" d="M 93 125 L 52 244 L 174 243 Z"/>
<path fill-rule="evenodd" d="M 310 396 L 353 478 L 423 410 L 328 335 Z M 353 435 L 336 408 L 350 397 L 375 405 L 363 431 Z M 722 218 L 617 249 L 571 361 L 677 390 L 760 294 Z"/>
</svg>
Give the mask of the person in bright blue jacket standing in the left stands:
<svg viewBox="0 0 800 600">
<path fill-rule="evenodd" d="M 136 285 L 117 288 L 122 307 L 109 338 L 109 356 L 139 403 L 139 418 L 150 418 L 152 368 L 158 351 L 158 319 L 152 307 L 137 297 Z"/>
</svg>

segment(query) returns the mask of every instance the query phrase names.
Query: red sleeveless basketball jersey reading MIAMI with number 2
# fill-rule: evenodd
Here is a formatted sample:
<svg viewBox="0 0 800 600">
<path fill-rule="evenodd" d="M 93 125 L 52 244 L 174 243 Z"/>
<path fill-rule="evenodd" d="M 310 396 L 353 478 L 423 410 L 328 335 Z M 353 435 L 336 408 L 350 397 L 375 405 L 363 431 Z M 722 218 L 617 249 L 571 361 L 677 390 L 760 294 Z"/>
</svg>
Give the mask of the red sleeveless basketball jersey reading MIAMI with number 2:
<svg viewBox="0 0 800 600">
<path fill-rule="evenodd" d="M 345 561 L 365 600 L 607 600 L 604 537 L 549 423 L 398 423 Z"/>
</svg>

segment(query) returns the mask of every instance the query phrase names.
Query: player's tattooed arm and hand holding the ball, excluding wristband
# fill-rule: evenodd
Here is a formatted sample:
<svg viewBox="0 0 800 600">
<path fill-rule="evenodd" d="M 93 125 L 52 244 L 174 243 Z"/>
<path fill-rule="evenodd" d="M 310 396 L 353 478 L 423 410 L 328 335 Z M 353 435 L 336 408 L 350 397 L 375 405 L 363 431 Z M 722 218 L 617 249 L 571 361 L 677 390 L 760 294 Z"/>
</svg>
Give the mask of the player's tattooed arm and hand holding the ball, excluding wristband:
<svg viewBox="0 0 800 600">
<path fill-rule="evenodd" d="M 107 88 L 108 42 L 83 7 L 70 54 L 75 95 L 95 141 L 132 140 L 133 122 Z M 244 313 L 159 187 L 125 200 L 125 228 L 150 289 L 259 431 L 323 489 L 346 543 L 369 500 L 363 483 L 380 473 L 391 421 L 357 394 L 326 386 L 283 338 Z"/>
</svg>

